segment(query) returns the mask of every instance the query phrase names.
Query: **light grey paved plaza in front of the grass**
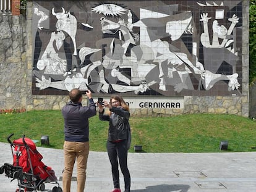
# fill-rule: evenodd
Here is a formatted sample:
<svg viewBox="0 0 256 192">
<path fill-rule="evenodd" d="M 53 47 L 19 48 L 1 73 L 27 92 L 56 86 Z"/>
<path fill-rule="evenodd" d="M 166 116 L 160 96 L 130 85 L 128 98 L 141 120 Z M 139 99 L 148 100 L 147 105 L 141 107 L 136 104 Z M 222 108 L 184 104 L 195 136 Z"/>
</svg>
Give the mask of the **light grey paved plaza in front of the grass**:
<svg viewBox="0 0 256 192">
<path fill-rule="evenodd" d="M 11 147 L 0 143 L 0 165 L 12 163 Z M 62 187 L 64 157 L 61 149 L 37 148 L 45 165 L 52 167 Z M 131 192 L 247 192 L 256 191 L 256 152 L 147 153 L 129 152 Z M 72 192 L 76 192 L 76 167 Z M 122 176 L 122 173 L 120 173 Z M 0 175 L 0 191 L 14 192 L 17 180 Z M 54 185 L 47 184 L 45 191 Z M 90 151 L 85 191 L 109 192 L 113 188 L 106 152 Z M 121 190 L 124 181 L 121 177 Z"/>
</svg>

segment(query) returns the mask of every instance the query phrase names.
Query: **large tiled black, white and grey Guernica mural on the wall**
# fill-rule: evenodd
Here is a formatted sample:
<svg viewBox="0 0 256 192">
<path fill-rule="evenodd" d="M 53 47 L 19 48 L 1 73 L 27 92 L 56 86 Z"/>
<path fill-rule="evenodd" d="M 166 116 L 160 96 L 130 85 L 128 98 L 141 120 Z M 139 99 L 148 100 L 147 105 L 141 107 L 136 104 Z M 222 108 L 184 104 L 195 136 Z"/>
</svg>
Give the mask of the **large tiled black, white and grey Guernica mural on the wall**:
<svg viewBox="0 0 256 192">
<path fill-rule="evenodd" d="M 239 95 L 242 1 L 33 1 L 33 94 Z"/>
</svg>

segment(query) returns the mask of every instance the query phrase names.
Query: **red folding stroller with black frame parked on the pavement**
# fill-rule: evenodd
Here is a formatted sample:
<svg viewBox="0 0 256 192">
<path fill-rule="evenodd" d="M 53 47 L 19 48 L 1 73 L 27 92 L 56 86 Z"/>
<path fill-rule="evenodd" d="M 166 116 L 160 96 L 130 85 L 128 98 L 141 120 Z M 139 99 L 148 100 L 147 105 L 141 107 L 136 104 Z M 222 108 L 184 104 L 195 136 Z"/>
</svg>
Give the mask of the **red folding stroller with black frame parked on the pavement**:
<svg viewBox="0 0 256 192">
<path fill-rule="evenodd" d="M 20 138 L 10 140 L 12 133 L 8 138 L 11 144 L 13 164 L 5 163 L 0 167 L 0 174 L 5 173 L 6 177 L 18 180 L 19 189 L 17 192 L 26 191 L 44 191 L 45 183 L 52 183 L 58 186 L 53 187 L 53 192 L 62 192 L 58 179 L 51 167 L 43 164 L 43 156 L 36 150 L 35 143 L 29 138 Z"/>
</svg>

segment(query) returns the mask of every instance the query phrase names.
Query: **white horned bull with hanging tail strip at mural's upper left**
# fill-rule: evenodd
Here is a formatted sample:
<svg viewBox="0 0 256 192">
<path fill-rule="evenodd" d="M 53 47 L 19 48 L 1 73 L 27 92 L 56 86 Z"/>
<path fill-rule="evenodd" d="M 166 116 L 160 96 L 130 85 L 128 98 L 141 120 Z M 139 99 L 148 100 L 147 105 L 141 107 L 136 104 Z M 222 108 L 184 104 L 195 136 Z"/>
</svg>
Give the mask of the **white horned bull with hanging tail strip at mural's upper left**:
<svg viewBox="0 0 256 192">
<path fill-rule="evenodd" d="M 74 55 L 77 55 L 77 45 L 75 43 L 75 35 L 77 34 L 77 19 L 74 15 L 71 15 L 70 12 L 65 12 L 63 7 L 62 12 L 56 13 L 54 12 L 54 7 L 51 10 L 52 14 L 56 16 L 58 21 L 56 22 L 57 31 L 65 31 L 71 38 L 74 44 Z"/>
</svg>

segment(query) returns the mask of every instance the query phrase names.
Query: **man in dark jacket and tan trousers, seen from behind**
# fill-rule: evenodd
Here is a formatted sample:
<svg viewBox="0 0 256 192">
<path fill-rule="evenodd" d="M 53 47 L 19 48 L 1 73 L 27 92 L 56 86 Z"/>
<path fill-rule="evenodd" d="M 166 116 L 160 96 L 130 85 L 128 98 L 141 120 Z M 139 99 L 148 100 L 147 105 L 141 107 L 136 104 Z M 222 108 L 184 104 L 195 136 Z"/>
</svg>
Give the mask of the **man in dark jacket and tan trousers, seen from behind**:
<svg viewBox="0 0 256 192">
<path fill-rule="evenodd" d="M 79 89 L 69 92 L 70 101 L 62 108 L 64 118 L 64 171 L 63 191 L 70 192 L 72 172 L 77 160 L 77 192 L 85 188 L 87 159 L 89 154 L 88 118 L 96 115 L 96 106 L 92 92 L 86 91 L 89 106 L 82 106 L 82 93 Z"/>
</svg>

